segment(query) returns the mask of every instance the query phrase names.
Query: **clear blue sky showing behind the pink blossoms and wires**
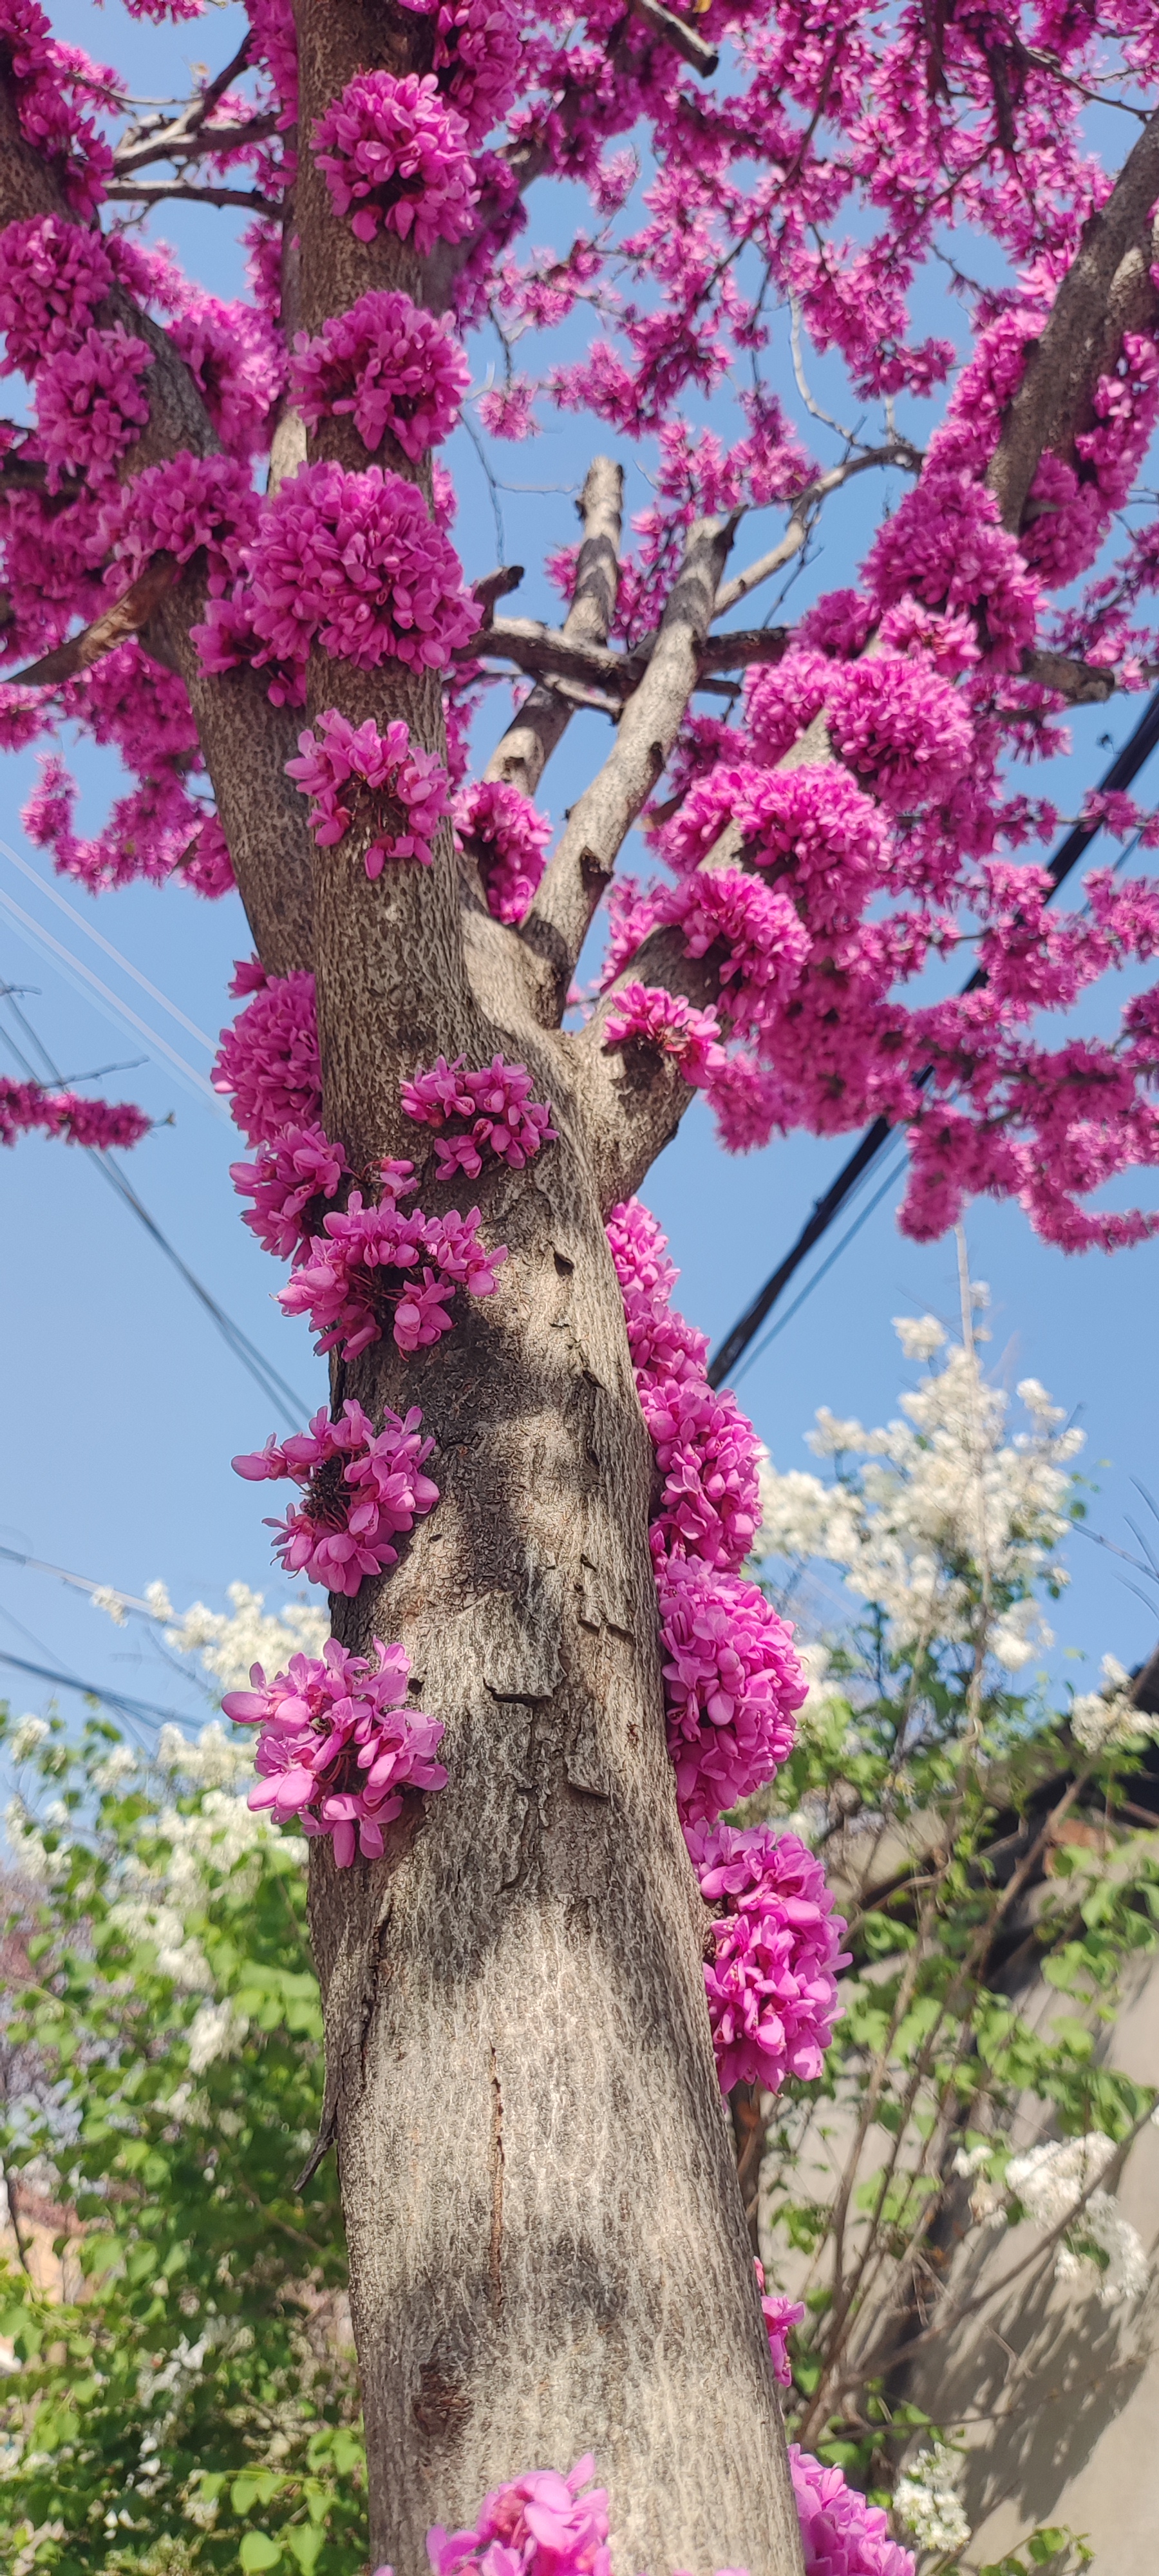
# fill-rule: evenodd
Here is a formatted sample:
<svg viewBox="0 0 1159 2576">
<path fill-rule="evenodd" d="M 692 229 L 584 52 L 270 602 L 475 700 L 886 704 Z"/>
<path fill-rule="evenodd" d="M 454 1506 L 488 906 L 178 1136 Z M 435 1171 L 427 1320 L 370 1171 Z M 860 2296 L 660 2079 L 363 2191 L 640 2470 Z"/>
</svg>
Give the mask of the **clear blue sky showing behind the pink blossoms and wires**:
<svg viewBox="0 0 1159 2576">
<path fill-rule="evenodd" d="M 227 59 L 234 8 L 211 10 L 206 21 L 155 31 L 131 26 L 121 8 L 93 23 L 93 10 L 67 5 L 54 10 L 62 36 L 88 41 L 134 67 L 142 93 L 175 90 L 180 62 L 211 52 Z M 538 191 L 531 206 L 528 240 L 567 234 L 559 191 Z M 175 242 L 198 278 L 219 294 L 242 283 L 229 216 L 209 211 L 167 211 L 152 227 Z M 961 317 L 938 301 L 922 317 L 925 327 L 958 330 Z M 582 345 L 574 332 L 569 353 Z M 479 379 L 489 363 L 487 348 L 471 353 Z M 786 407 L 804 420 L 788 361 L 773 376 Z M 822 399 L 837 402 L 840 384 L 816 371 Z M 703 410 L 698 412 L 703 417 Z M 914 412 L 909 425 L 927 430 L 930 412 Z M 816 443 L 816 430 L 809 425 Z M 574 533 L 567 495 L 582 482 L 592 446 L 608 446 L 608 433 L 574 417 L 549 415 L 543 435 L 523 448 L 492 448 L 495 471 L 513 487 L 500 495 L 507 554 L 528 564 L 518 595 L 523 613 L 549 611 L 551 595 L 536 572 L 541 554 Z M 822 440 L 824 448 L 824 440 Z M 464 433 L 448 461 L 461 489 L 458 544 L 469 574 L 495 564 L 497 536 L 492 500 L 479 459 Z M 631 456 L 626 456 L 631 464 Z M 881 489 L 850 487 L 824 523 L 824 549 L 793 590 L 793 613 L 819 590 L 853 574 L 871 528 L 881 513 Z M 554 489 L 525 489 L 554 487 Z M 641 507 L 649 487 L 631 464 L 628 502 Z M 768 544 L 768 520 L 757 523 L 747 551 Z M 505 721 L 505 690 L 479 724 L 479 762 Z M 1051 788 L 1061 804 L 1092 783 L 1107 750 L 1118 744 L 1141 708 L 1138 698 L 1084 711 L 1074 724 L 1074 755 L 1056 762 Z M 577 788 L 592 773 L 608 744 L 608 724 L 585 714 L 574 719 L 556 762 L 543 781 L 543 804 L 559 819 Z M 1159 793 L 1156 778 L 1138 793 Z M 234 956 L 250 948 L 240 902 L 201 904 L 183 891 L 160 894 L 131 886 L 90 902 L 82 889 L 62 881 L 70 917 L 54 907 L 49 863 L 21 832 L 21 804 L 33 783 L 33 757 L 13 757 L 0 788 L 0 976 L 21 987 L 21 1010 L 39 1041 L 67 1077 L 144 1056 L 131 1072 L 108 1074 L 98 1087 L 111 1097 L 139 1100 L 160 1121 L 149 1139 L 124 1157 L 124 1167 L 144 1206 L 160 1221 L 185 1262 L 201 1275 L 221 1306 L 268 1355 L 273 1368 L 301 1396 L 301 1417 L 325 1401 L 325 1365 L 312 1358 L 299 1324 L 286 1324 L 273 1306 L 276 1267 L 255 1249 L 240 1224 L 227 1164 L 240 1151 L 237 1136 L 203 1090 L 209 1048 L 173 1020 L 160 1002 L 85 935 L 82 922 L 111 940 L 196 1030 L 216 1038 L 227 1018 L 224 984 Z M 93 827 L 116 791 L 116 768 L 106 755 L 85 750 L 77 757 L 82 783 L 82 824 Z M 1046 783 L 1048 773 L 1041 773 Z M 15 853 L 15 860 L 8 855 Z M 1107 848 L 1097 845 L 1105 860 Z M 21 871 L 31 866 L 36 884 Z M 21 922 L 18 912 L 36 927 Z M 100 1002 L 75 966 L 46 951 L 39 933 L 64 945 L 72 961 L 100 976 L 108 989 L 165 1038 L 185 1061 L 170 1056 L 129 1028 L 113 1005 Z M 1092 1025 L 1110 1025 L 1118 997 L 1100 997 Z M 21 1041 L 8 1012 L 8 1036 Z M 15 1072 L 8 1054 L 5 1072 Z M 731 1324 L 765 1273 L 786 1252 L 827 1188 L 847 1144 L 816 1144 L 806 1136 L 773 1144 L 768 1151 L 729 1159 L 711 1133 L 703 1108 L 685 1121 L 680 1139 L 654 1167 L 646 1198 L 670 1231 L 683 1267 L 680 1303 L 713 1337 Z M 93 1162 L 57 1144 L 26 1141 L 0 1164 L 5 1198 L 5 1321 L 0 1370 L 5 1394 L 5 1499 L 0 1502 L 0 1546 L 49 1558 L 57 1566 L 142 1592 L 162 1577 L 178 1605 L 201 1597 L 219 1607 L 232 1579 L 286 1597 L 270 1571 L 260 1492 L 229 1473 L 234 1450 L 255 1448 L 276 1422 L 270 1401 L 227 1352 L 211 1321 L 167 1267 L 144 1229 L 108 1190 Z M 878 1182 L 873 1180 L 865 1198 Z M 894 1314 L 932 1309 L 956 1316 L 953 1242 L 917 1247 L 899 1236 L 894 1206 L 901 1190 L 886 1193 L 855 1242 L 842 1252 L 801 1311 L 778 1332 L 739 1381 L 742 1399 L 757 1430 L 770 1443 L 778 1466 L 806 1466 L 804 1435 L 819 1404 L 881 1419 L 896 1409 L 899 1388 L 912 1378 L 891 1332 Z M 860 1203 L 858 1203 L 860 1206 Z M 850 1213 L 858 1213 L 858 1206 Z M 824 1252 L 842 1226 L 827 1239 Z M 1038 1376 L 1087 1432 L 1084 1468 L 1100 1486 L 1092 1497 L 1092 1528 L 1113 1546 L 1136 1551 L 1128 1517 L 1151 1528 L 1159 1520 L 1141 1502 L 1133 1479 L 1151 1486 L 1159 1504 L 1159 1394 L 1154 1368 L 1154 1314 L 1159 1303 L 1159 1247 L 1066 1260 L 1038 1244 L 1017 1208 L 976 1206 L 968 1216 L 968 1244 L 976 1275 L 992 1285 L 992 1363 L 1010 1383 Z M 804 1285 L 816 1270 L 806 1265 Z M 786 1298 L 788 1303 L 788 1298 Z M 783 1309 L 780 1309 L 783 1311 Z M 1159 1546 L 1156 1546 L 1159 1553 Z M 1059 1680 L 1079 1677 L 1066 1659 L 1079 1651 L 1097 1664 L 1102 1651 L 1136 1662 L 1154 1646 L 1159 1625 L 1159 1587 L 1138 1597 L 1136 1582 L 1110 1548 L 1077 1538 L 1069 1551 L 1071 1589 L 1056 1610 L 1059 1646 L 1051 1656 Z M 1146 1587 L 1144 1587 L 1146 1589 Z M 36 1574 L 0 1558 L 0 1651 L 52 1664 L 70 1674 L 129 1690 L 185 1716 L 198 1713 L 188 1674 L 165 1664 L 144 1628 L 116 1631 L 106 1618 L 49 1574 Z M 1087 1664 L 1089 1672 L 1089 1664 Z M 46 1690 L 18 1672 L 5 1677 L 18 1708 L 41 1708 Z M 77 1703 L 72 1703 L 75 1708 Z"/>
</svg>

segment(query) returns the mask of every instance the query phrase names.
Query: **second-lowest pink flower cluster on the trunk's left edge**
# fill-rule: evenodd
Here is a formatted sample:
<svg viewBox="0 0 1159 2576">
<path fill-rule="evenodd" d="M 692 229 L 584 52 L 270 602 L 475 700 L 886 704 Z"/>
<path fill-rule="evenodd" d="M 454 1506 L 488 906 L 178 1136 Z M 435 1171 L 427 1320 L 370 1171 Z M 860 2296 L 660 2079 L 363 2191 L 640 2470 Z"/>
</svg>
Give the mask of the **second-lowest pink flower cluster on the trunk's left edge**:
<svg viewBox="0 0 1159 2576">
<path fill-rule="evenodd" d="M 250 1484 L 291 1476 L 304 1486 L 304 1502 L 270 1520 L 273 1548 L 286 1574 L 306 1574 L 330 1592 L 358 1592 L 363 1574 L 381 1574 L 399 1561 L 394 1540 L 407 1535 L 438 1502 L 438 1484 L 422 1476 L 422 1461 L 435 1448 L 420 1440 L 422 1414 L 386 1412 L 381 1432 L 350 1399 L 337 1422 L 325 1406 L 309 1432 L 268 1440 L 263 1450 L 234 1458 L 234 1473 Z"/>
</svg>

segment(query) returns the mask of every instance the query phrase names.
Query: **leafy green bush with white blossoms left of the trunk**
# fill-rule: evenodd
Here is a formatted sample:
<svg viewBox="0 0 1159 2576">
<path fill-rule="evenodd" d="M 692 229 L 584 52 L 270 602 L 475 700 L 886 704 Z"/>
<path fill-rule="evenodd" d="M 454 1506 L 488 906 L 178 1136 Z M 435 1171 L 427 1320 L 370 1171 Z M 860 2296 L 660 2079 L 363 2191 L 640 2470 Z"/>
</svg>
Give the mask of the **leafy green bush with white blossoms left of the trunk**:
<svg viewBox="0 0 1159 2576">
<path fill-rule="evenodd" d="M 332 2159 L 294 2179 L 322 2110 L 304 1844 L 214 1736 L 160 1772 L 52 1721 L 26 1770 L 54 1821 L 8 1880 L 3 2566 L 366 2566 Z"/>
</svg>

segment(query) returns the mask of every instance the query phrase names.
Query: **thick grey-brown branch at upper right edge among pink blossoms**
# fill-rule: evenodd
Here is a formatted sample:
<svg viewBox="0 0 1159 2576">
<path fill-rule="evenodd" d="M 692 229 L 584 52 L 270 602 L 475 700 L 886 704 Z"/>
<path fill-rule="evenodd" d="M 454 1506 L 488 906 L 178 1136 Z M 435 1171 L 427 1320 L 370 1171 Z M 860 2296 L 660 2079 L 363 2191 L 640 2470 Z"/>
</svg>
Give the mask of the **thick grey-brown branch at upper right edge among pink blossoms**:
<svg viewBox="0 0 1159 2576">
<path fill-rule="evenodd" d="M 1002 526 L 1015 536 L 1038 459 L 1046 448 L 1053 456 L 1071 456 L 1074 435 L 1089 425 L 1095 386 L 1113 368 L 1123 332 L 1154 327 L 1156 198 L 1159 111 L 1123 162 L 1107 204 L 1084 224 L 1051 319 L 1041 340 L 1030 343 L 1022 384 L 1007 407 L 986 484 L 997 497 Z"/>
</svg>

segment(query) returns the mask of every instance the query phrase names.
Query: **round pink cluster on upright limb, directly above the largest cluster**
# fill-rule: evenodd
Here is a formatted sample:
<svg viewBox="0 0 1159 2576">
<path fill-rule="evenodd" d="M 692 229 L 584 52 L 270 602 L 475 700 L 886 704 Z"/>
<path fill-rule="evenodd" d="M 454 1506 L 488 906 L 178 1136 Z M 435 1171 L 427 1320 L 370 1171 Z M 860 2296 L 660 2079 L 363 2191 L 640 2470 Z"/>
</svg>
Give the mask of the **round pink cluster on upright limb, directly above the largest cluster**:
<svg viewBox="0 0 1159 2576">
<path fill-rule="evenodd" d="M 350 412 L 366 448 L 389 433 L 412 464 L 453 430 L 469 381 L 451 327 L 394 291 L 358 296 L 317 340 L 299 332 L 294 343 L 294 392 L 306 425 Z"/>
</svg>

